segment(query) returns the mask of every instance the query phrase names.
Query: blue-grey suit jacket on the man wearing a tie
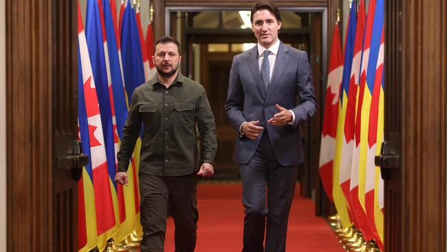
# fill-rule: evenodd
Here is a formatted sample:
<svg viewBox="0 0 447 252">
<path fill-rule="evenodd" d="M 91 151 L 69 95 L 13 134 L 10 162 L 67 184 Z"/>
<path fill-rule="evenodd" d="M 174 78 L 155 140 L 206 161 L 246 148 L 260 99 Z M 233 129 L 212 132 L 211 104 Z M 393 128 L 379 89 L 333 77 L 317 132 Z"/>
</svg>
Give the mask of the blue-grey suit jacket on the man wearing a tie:
<svg viewBox="0 0 447 252">
<path fill-rule="evenodd" d="M 297 95 L 299 104 L 296 102 Z M 279 112 L 276 104 L 294 112 L 294 126 L 267 124 L 267 120 Z M 257 45 L 236 55 L 230 70 L 225 109 L 238 135 L 235 162 L 245 164 L 250 161 L 259 145 L 261 136 L 250 140 L 239 134 L 241 124 L 252 120 L 259 120 L 264 132 L 268 131 L 273 152 L 281 165 L 297 165 L 303 162 L 299 125 L 316 112 L 312 72 L 306 52 L 281 42 L 267 94 L 261 82 Z"/>
</svg>

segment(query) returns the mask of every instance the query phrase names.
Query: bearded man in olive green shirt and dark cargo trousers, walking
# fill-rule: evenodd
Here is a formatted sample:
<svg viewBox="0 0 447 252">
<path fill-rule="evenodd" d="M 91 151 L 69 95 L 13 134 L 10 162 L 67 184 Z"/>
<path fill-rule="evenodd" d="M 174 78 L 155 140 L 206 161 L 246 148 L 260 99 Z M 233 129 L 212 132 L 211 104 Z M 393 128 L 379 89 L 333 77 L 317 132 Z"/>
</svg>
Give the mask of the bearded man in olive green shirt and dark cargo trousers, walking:
<svg viewBox="0 0 447 252">
<path fill-rule="evenodd" d="M 181 60 L 176 39 L 164 36 L 155 42 L 157 74 L 133 92 L 117 155 L 115 181 L 127 185 L 129 159 L 143 122 L 139 172 L 142 252 L 164 251 L 168 204 L 175 221 L 175 251 L 194 251 L 197 175 L 214 174 L 214 116 L 204 87 L 179 72 Z M 197 160 L 196 125 L 201 160 Z"/>
</svg>

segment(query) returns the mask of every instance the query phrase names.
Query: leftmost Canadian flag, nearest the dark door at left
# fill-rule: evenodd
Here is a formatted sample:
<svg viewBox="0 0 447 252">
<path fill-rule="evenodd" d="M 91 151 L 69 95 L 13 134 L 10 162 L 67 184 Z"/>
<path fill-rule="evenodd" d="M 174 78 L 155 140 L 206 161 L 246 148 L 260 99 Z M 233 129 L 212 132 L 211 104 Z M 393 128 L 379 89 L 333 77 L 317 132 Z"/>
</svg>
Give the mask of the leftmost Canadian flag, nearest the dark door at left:
<svg viewBox="0 0 447 252">
<path fill-rule="evenodd" d="M 89 1 L 87 4 L 94 2 Z M 91 8 L 91 6 L 87 6 Z M 94 201 L 96 210 L 96 230 L 98 235 L 98 248 L 105 249 L 107 239 L 115 232 L 116 219 L 111 196 L 111 185 L 109 182 L 109 171 L 107 166 L 107 155 L 105 139 L 102 129 L 102 118 L 100 115 L 96 83 L 91 68 L 89 50 L 80 11 L 78 10 L 78 46 L 80 61 L 80 78 L 83 87 L 80 88 L 80 107 L 84 107 L 83 113 L 79 114 L 81 141 L 89 143 L 89 160 L 91 165 L 91 180 L 94 182 Z M 85 122 L 85 123 L 83 123 Z M 83 136 L 88 136 L 83 138 Z M 84 144 L 83 144 L 84 146 Z M 86 216 L 87 219 L 89 219 Z M 87 223 L 88 224 L 88 223 Z M 91 223 L 90 223 L 91 225 Z M 91 227 L 91 226 L 90 226 Z"/>
</svg>

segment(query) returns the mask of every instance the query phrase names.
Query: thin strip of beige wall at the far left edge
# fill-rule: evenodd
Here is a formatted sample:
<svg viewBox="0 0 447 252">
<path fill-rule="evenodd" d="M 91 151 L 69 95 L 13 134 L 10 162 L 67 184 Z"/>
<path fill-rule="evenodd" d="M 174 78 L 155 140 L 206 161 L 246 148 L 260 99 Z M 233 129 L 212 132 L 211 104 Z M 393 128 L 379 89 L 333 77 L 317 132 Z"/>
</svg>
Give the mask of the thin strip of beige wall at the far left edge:
<svg viewBox="0 0 447 252">
<path fill-rule="evenodd" d="M 0 0 L 0 251 L 6 251 L 6 14 Z"/>
</svg>

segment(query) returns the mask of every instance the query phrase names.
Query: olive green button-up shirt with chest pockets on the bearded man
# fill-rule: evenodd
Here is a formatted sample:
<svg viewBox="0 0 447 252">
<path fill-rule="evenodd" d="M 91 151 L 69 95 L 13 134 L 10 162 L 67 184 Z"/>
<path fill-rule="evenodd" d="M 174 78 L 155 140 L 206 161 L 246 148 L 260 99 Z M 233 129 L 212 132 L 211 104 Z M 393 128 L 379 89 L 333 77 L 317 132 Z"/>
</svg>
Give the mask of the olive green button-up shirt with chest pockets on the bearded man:
<svg viewBox="0 0 447 252">
<path fill-rule="evenodd" d="M 127 171 L 143 122 L 140 172 L 155 176 L 193 174 L 199 165 L 214 165 L 216 127 L 204 87 L 180 72 L 168 88 L 155 74 L 135 88 L 122 130 L 118 171 Z M 201 138 L 197 160 L 196 125 Z"/>
</svg>

